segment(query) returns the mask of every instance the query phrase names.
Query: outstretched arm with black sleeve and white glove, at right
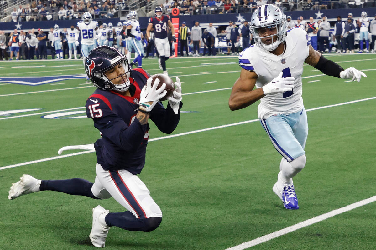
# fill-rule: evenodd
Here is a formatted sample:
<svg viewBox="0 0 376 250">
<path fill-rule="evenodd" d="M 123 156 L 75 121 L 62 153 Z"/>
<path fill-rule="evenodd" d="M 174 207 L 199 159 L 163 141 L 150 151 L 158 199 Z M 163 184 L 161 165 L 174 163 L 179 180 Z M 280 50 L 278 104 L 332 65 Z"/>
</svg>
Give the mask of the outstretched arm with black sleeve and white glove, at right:
<svg viewBox="0 0 376 250">
<path fill-rule="evenodd" d="M 325 75 L 336 76 L 342 79 L 352 79 L 352 81 L 360 81 L 361 77 L 367 77 L 365 73 L 354 67 L 349 67 L 346 70 L 334 61 L 327 60 L 320 52 L 315 51 L 311 45 L 309 45 L 309 55 L 305 60 L 311 66 L 323 72 Z"/>
</svg>

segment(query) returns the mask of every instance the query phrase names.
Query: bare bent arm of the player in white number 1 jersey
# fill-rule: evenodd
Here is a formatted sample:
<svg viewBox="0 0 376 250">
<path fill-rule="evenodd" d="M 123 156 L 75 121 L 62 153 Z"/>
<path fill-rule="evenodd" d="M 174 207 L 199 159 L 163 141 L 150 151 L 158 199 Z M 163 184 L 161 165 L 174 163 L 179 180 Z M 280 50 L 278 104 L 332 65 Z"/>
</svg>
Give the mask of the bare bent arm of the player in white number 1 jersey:
<svg viewBox="0 0 376 250">
<path fill-rule="evenodd" d="M 230 94 L 231 110 L 245 108 L 265 96 L 262 88 L 253 90 L 257 77 L 255 72 L 241 69 L 240 76 L 235 81 Z"/>
</svg>

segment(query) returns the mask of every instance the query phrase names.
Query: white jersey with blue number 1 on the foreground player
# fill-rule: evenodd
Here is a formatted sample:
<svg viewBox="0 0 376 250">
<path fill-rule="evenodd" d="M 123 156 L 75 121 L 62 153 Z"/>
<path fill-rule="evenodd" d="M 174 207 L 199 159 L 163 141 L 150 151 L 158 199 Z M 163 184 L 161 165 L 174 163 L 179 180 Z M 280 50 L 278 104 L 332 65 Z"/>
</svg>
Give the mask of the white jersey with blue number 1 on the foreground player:
<svg viewBox="0 0 376 250">
<path fill-rule="evenodd" d="M 293 91 L 268 94 L 260 99 L 260 119 L 267 119 L 274 114 L 292 114 L 303 108 L 302 73 L 303 63 L 309 55 L 308 35 L 302 28 L 292 28 L 287 31 L 285 41 L 286 51 L 282 55 L 274 55 L 257 45 L 252 45 L 239 54 L 239 65 L 258 75 L 257 88 L 271 82 L 281 71 L 284 72 L 284 77 L 295 78 Z"/>
</svg>

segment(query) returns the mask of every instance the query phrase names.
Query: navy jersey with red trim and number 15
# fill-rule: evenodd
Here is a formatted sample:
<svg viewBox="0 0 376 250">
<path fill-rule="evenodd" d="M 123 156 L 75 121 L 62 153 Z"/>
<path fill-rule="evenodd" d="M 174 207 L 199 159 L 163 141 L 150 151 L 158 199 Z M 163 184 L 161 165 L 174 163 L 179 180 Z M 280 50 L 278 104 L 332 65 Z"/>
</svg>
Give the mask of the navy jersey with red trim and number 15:
<svg viewBox="0 0 376 250">
<path fill-rule="evenodd" d="M 97 163 L 105 170 L 126 169 L 132 174 L 139 174 L 144 167 L 149 123 L 141 125 L 136 113 L 141 89 L 149 77 L 145 70 L 134 69 L 129 78 L 133 96 L 97 88 L 86 100 L 86 115 L 94 121 L 94 127 L 102 135 L 94 147 Z M 175 115 L 170 105 L 165 109 L 158 102 L 150 112 L 149 119 L 162 132 L 172 133 L 180 119 L 180 108 Z"/>
</svg>

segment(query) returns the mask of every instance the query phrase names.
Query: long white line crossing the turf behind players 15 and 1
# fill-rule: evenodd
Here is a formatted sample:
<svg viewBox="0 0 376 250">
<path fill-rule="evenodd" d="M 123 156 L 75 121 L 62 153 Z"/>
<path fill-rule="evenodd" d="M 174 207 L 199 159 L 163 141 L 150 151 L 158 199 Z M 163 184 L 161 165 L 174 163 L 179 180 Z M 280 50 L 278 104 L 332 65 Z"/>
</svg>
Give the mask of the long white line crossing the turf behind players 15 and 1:
<svg viewBox="0 0 376 250">
<path fill-rule="evenodd" d="M 353 100 L 353 101 L 350 101 L 350 102 L 343 102 L 343 103 L 337 103 L 337 104 L 333 104 L 333 105 L 327 105 L 327 106 L 322 106 L 322 107 L 317 107 L 317 108 L 306 109 L 306 111 L 312 111 L 312 110 L 323 109 L 323 108 L 330 108 L 330 107 L 341 106 L 341 105 L 345 105 L 345 104 L 362 102 L 362 101 L 372 100 L 372 99 L 376 99 L 376 96 L 365 98 L 365 99 Z M 190 134 L 193 134 L 193 133 L 199 133 L 199 132 L 204 132 L 204 131 L 209 131 L 209 130 L 214 130 L 214 129 L 221 129 L 221 128 L 224 128 L 224 127 L 236 126 L 236 125 L 240 125 L 240 124 L 252 123 L 252 122 L 255 122 L 255 121 L 259 121 L 259 119 L 241 121 L 241 122 L 238 122 L 238 123 L 231 123 L 231 124 L 226 124 L 226 125 L 221 125 L 221 126 L 216 126 L 216 127 L 209 127 L 209 128 L 206 128 L 206 129 L 193 130 L 193 131 L 190 131 L 190 132 L 179 133 L 179 134 L 176 134 L 176 135 L 161 136 L 161 137 L 150 139 L 149 142 L 158 141 L 158 140 L 167 139 L 167 138 L 172 138 L 172 137 L 177 137 L 177 136 L 182 136 L 182 135 L 190 135 Z M 23 163 L 18 163 L 18 164 L 14 164 L 14 165 L 0 167 L 0 170 L 6 169 L 6 168 L 14 168 L 14 167 L 18 167 L 18 166 L 28 165 L 28 164 L 32 164 L 32 163 L 45 162 L 47 160 L 54 160 L 54 159 L 60 159 L 60 158 L 64 158 L 64 157 L 76 156 L 76 155 L 79 155 L 79 154 L 92 153 L 92 152 L 94 152 L 94 150 L 83 151 L 83 152 L 72 153 L 72 154 L 65 154 L 64 156 L 55 156 L 55 157 L 50 157 L 50 158 L 45 158 L 45 159 L 40 159 L 40 160 L 34 160 L 34 161 L 31 161 L 31 162 L 23 162 Z"/>
</svg>

